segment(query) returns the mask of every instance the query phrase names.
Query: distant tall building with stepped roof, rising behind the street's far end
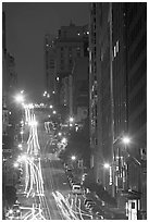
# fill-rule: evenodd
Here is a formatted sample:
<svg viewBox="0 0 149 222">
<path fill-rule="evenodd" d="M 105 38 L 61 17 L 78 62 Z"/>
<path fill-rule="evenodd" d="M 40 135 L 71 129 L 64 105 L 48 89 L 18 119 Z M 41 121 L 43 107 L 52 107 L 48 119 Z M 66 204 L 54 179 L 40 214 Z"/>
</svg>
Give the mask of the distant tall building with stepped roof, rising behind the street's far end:
<svg viewBox="0 0 149 222">
<path fill-rule="evenodd" d="M 50 82 L 52 82 L 51 75 L 54 76 L 52 78 L 54 82 L 52 83 L 54 85 L 52 94 L 54 94 L 57 109 L 61 110 L 62 115 L 65 118 L 72 110 L 70 107 L 72 106 L 70 89 L 75 59 L 86 57 L 88 54 L 87 47 L 88 26 L 76 26 L 71 22 L 70 26 L 62 26 L 59 29 L 58 37 L 52 40 L 48 49 L 49 55 L 46 55 L 46 61 L 50 61 L 49 64 L 52 65 L 52 70 L 46 79 L 48 83 L 49 76 Z M 48 73 L 48 66 L 46 67 L 46 72 Z"/>
</svg>

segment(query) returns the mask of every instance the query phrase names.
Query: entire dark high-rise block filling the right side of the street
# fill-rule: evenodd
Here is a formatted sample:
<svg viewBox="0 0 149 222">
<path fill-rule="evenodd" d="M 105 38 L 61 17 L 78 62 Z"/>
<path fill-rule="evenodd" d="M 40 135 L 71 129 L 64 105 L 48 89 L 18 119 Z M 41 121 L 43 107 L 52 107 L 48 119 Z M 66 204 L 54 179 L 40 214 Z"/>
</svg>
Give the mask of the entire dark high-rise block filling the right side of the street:
<svg viewBox="0 0 149 222">
<path fill-rule="evenodd" d="M 90 3 L 89 24 L 90 163 L 97 181 L 115 197 L 125 192 L 122 205 L 138 198 L 140 211 L 147 196 L 146 10 L 146 3 Z"/>
</svg>

